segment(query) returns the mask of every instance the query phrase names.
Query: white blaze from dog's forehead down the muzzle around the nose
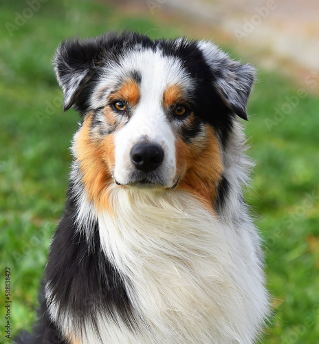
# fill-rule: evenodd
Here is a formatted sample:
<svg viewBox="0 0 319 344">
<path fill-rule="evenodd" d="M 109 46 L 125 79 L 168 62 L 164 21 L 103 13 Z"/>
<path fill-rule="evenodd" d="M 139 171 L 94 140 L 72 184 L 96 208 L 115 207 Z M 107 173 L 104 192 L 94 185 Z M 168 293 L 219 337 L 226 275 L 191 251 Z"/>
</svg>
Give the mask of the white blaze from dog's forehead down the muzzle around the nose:
<svg viewBox="0 0 319 344">
<path fill-rule="evenodd" d="M 129 182 L 134 166 L 130 152 L 134 144 L 150 141 L 164 149 L 164 162 L 159 167 L 167 186 L 174 184 L 176 173 L 175 135 L 163 109 L 163 96 L 169 85 L 190 89 L 190 77 L 177 58 L 162 56 L 161 52 L 144 50 L 132 52 L 120 63 L 122 73 L 138 72 L 140 101 L 129 122 L 115 133 L 115 180 Z M 124 75 L 122 76 L 124 78 Z"/>
</svg>

